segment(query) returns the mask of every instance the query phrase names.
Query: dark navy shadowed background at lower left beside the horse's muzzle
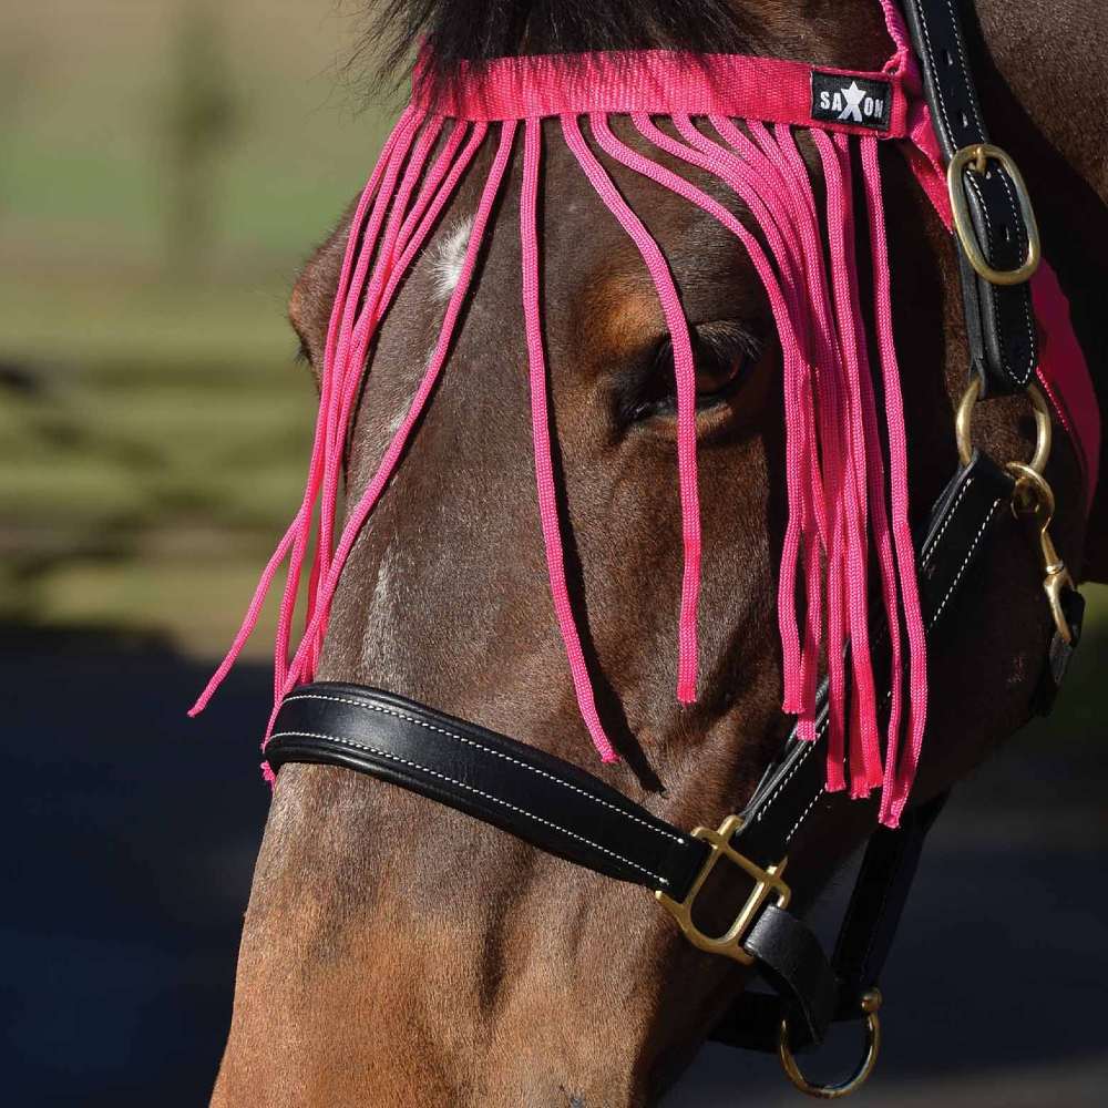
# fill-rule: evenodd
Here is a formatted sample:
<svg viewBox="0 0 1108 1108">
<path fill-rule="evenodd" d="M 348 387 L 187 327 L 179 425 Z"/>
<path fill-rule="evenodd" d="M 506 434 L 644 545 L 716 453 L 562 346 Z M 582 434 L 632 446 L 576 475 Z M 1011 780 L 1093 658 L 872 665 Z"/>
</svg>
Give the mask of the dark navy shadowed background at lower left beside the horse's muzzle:
<svg viewBox="0 0 1108 1108">
<path fill-rule="evenodd" d="M 194 1108 L 230 1018 L 268 789 L 268 667 L 156 640 L 0 633 L 4 1101 Z"/>
</svg>

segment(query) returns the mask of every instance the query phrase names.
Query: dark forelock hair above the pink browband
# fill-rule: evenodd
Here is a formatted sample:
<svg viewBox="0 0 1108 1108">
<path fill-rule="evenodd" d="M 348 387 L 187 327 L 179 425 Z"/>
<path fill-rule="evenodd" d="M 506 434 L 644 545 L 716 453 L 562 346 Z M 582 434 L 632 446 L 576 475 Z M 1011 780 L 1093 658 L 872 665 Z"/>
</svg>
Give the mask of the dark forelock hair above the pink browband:
<svg viewBox="0 0 1108 1108">
<path fill-rule="evenodd" d="M 729 0 L 378 0 L 357 50 L 378 80 L 402 76 L 420 43 L 428 75 L 449 84 L 464 63 L 602 50 L 749 52 L 758 29 Z"/>
</svg>

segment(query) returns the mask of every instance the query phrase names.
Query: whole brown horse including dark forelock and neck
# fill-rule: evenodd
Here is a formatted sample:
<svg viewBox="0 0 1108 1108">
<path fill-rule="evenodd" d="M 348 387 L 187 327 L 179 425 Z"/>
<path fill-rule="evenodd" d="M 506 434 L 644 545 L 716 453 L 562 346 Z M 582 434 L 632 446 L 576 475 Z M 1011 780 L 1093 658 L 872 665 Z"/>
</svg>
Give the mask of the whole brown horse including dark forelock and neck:
<svg viewBox="0 0 1108 1108">
<path fill-rule="evenodd" d="M 1097 402 L 1108 328 L 1108 12 L 1079 0 L 976 0 L 967 49 L 983 110 L 1032 188 L 1069 297 Z M 743 52 L 876 70 L 889 53 L 873 0 L 392 0 L 377 34 L 425 35 L 439 64 L 602 50 Z M 551 121 L 544 131 L 553 127 Z M 640 135 L 618 117 L 633 150 Z M 480 148 L 375 339 L 347 432 L 347 503 L 371 481 L 428 360 L 463 264 Z M 820 158 L 802 144 L 815 188 Z M 603 157 L 603 155 L 597 155 Z M 901 351 L 913 513 L 956 464 L 952 411 L 968 366 L 950 236 L 912 172 L 880 151 Z M 565 572 L 597 710 L 620 758 L 598 776 L 690 827 L 735 810 L 781 742 L 776 636 L 786 530 L 781 350 L 749 258 L 717 223 L 611 158 L 680 289 L 697 355 L 704 534 L 695 704 L 674 700 L 681 592 L 674 481 L 674 352 L 642 259 L 550 143 L 538 213 L 553 466 Z M 524 172 L 516 147 L 509 182 Z M 725 197 L 704 171 L 695 184 Z M 717 188 L 716 192 L 712 192 Z M 733 195 L 739 218 L 749 213 Z M 496 201 L 447 375 L 342 570 L 317 676 L 392 689 L 540 750 L 582 761 L 588 733 L 550 614 L 534 512 L 519 188 Z M 304 266 L 289 318 L 317 379 L 353 207 Z M 872 327 L 872 320 L 868 319 Z M 991 456 L 1028 451 L 1026 401 L 978 404 Z M 1075 576 L 1108 581 L 1108 494 L 1086 515 L 1079 465 L 1057 435 L 1051 527 Z M 961 634 L 930 659 L 925 802 L 1028 719 L 1049 613 L 1026 543 L 997 544 L 960 601 Z M 794 906 L 812 903 L 868 835 L 875 801 L 798 839 Z M 655 1102 L 741 993 L 749 971 L 702 955 L 634 888 L 497 833 L 425 797 L 331 766 L 279 773 L 243 929 L 214 1108 Z M 741 1003 L 741 1002 L 740 1002 Z"/>
</svg>

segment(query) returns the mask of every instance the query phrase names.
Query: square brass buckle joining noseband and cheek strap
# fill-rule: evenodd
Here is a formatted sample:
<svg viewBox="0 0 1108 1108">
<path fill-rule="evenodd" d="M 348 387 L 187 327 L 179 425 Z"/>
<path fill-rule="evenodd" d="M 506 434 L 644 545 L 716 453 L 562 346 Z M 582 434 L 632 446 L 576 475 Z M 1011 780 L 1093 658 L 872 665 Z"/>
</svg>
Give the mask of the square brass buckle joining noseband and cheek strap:
<svg viewBox="0 0 1108 1108">
<path fill-rule="evenodd" d="M 728 815 L 718 831 L 697 828 L 693 832 L 693 838 L 707 842 L 711 847 L 711 853 L 705 860 L 685 899 L 675 901 L 660 890 L 654 895 L 658 903 L 677 921 L 677 926 L 681 929 L 681 933 L 695 947 L 706 951 L 708 954 L 721 954 L 724 957 L 733 958 L 745 966 L 751 966 L 755 964 L 755 958 L 742 948 L 747 932 L 770 896 L 776 896 L 777 906 L 783 909 L 788 906 L 792 891 L 781 880 L 786 862 L 788 862 L 787 858 L 781 859 L 774 865 L 762 869 L 731 848 L 731 837 L 740 827 L 742 827 L 741 817 Z M 726 858 L 732 865 L 737 865 L 747 876 L 751 878 L 755 888 L 747 897 L 746 904 L 742 905 L 742 910 L 735 917 L 735 922 L 722 935 L 706 935 L 693 922 L 693 905 L 696 903 L 704 883 L 708 880 L 708 875 L 721 858 Z"/>
</svg>

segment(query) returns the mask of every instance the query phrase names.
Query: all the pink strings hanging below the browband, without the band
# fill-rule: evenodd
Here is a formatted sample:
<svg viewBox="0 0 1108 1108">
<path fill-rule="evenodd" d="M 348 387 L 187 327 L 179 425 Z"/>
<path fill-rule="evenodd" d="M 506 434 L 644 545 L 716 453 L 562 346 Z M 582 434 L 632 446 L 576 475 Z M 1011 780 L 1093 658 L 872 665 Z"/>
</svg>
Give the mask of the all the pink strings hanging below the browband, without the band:
<svg viewBox="0 0 1108 1108">
<path fill-rule="evenodd" d="M 881 788 L 880 818 L 895 827 L 919 762 L 927 678 L 909 526 L 907 444 L 893 343 L 876 140 L 810 132 L 825 182 L 825 196 L 819 203 L 793 126 L 770 126 L 757 120 L 736 122 L 716 115 L 694 124 L 689 115 L 677 113 L 668 116 L 673 129 L 664 131 L 646 112 L 622 114 L 629 117 L 645 141 L 649 156 L 618 138 L 608 113 L 602 111 L 563 114 L 560 141 L 568 146 L 584 178 L 637 248 L 671 338 L 684 547 L 677 697 L 690 704 L 697 695 L 701 548 L 694 347 L 666 257 L 624 199 L 611 168 L 602 164 L 601 154 L 606 155 L 609 166 L 620 165 L 647 177 L 716 219 L 739 242 L 765 287 L 781 341 L 787 430 L 789 515 L 778 586 L 782 706 L 797 716 L 803 738 L 814 741 L 827 730 L 828 789 L 849 788 L 852 796 L 865 797 Z M 583 120 L 587 120 L 588 137 Z M 398 122 L 351 223 L 328 329 L 319 416 L 304 499 L 261 575 L 227 657 L 197 700 L 194 714 L 206 705 L 238 656 L 286 562 L 275 654 L 274 711 L 296 685 L 315 673 L 342 567 L 442 373 L 521 130 L 522 308 L 535 483 L 551 595 L 582 718 L 601 758 L 616 759 L 597 712 L 565 577 L 542 311 L 538 195 L 543 144 L 547 140 L 541 120 L 535 117 L 523 120 L 521 129 L 513 120 L 493 124 L 448 121 L 409 107 Z M 455 195 L 460 179 L 486 144 L 492 147 L 490 168 L 434 351 L 377 472 L 357 501 L 348 504 L 336 542 L 350 421 L 375 336 L 397 288 Z M 749 212 L 757 233 L 681 173 L 660 164 L 661 158 L 722 182 Z M 864 236 L 859 235 L 862 228 L 854 226 L 855 177 L 861 181 L 864 196 L 864 206 L 860 206 L 865 213 Z M 859 290 L 855 253 L 860 237 L 868 240 L 873 275 L 873 357 Z M 880 381 L 880 393 L 875 380 Z M 883 434 L 878 419 L 879 397 L 885 409 Z M 314 526 L 317 516 L 318 525 Z M 294 614 L 306 564 L 306 626 L 290 658 Z M 879 585 L 888 627 L 880 643 L 871 642 L 871 573 Z M 873 654 L 885 650 L 890 656 L 890 693 L 879 698 Z M 815 715 L 817 690 L 824 670 L 829 711 L 820 720 Z"/>
</svg>

